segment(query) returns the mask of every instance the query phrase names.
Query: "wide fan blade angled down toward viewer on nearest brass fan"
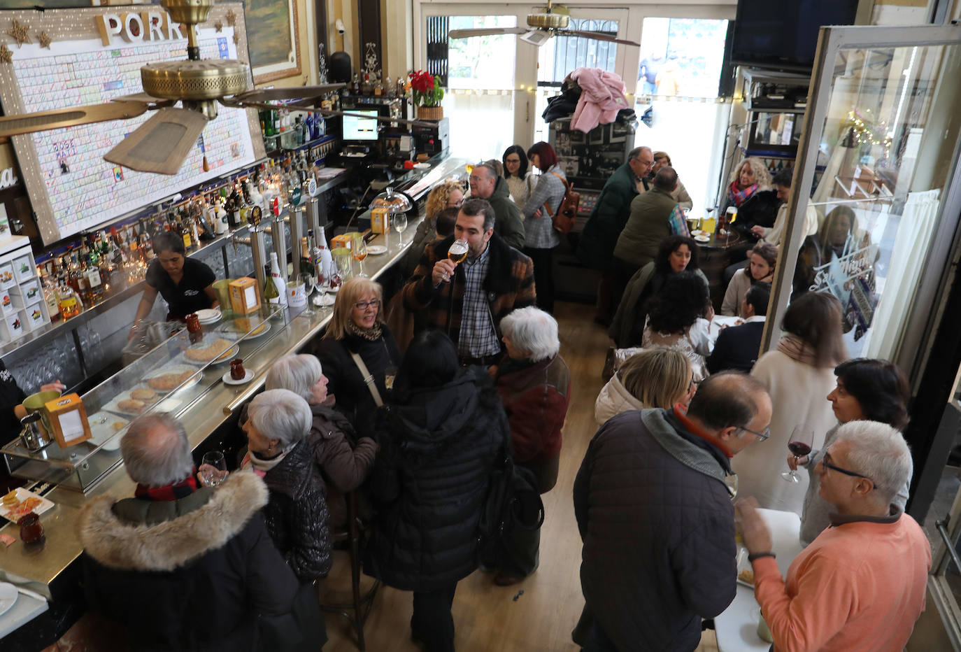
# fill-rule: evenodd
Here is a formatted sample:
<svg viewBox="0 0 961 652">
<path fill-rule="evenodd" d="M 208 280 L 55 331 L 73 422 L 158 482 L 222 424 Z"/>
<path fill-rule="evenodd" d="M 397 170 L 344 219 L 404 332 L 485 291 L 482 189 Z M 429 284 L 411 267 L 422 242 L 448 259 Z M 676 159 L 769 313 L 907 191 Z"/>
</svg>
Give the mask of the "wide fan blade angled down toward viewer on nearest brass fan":
<svg viewBox="0 0 961 652">
<path fill-rule="evenodd" d="M 160 109 L 105 154 L 104 160 L 139 172 L 176 174 L 206 126 L 203 113 Z"/>
</svg>

